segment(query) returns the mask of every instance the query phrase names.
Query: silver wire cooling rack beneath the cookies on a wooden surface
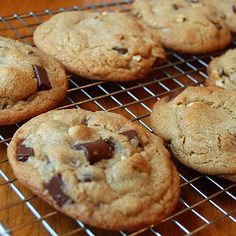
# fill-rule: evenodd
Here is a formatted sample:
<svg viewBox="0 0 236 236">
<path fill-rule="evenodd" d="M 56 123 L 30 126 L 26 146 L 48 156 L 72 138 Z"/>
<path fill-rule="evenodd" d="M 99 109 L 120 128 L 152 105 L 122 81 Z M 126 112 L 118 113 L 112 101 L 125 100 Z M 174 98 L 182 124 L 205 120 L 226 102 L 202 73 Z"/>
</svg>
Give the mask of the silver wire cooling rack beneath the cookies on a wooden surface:
<svg viewBox="0 0 236 236">
<path fill-rule="evenodd" d="M 131 2 L 110 1 L 99 5 L 74 6 L 55 11 L 46 9 L 43 12 L 0 17 L 0 35 L 32 45 L 34 29 L 55 13 L 66 10 L 129 11 Z M 235 47 L 235 44 L 234 39 L 231 47 Z M 154 102 L 175 90 L 203 83 L 207 78 L 209 61 L 223 52 L 201 56 L 172 51 L 167 53 L 168 60 L 164 65 L 154 66 L 147 78 L 136 82 L 98 82 L 68 74 L 69 89 L 59 108 L 118 112 L 151 131 L 149 114 Z M 232 229 L 236 232 L 236 184 L 200 175 L 177 161 L 181 197 L 175 212 L 158 226 L 134 233 L 109 232 L 74 221 L 55 211 L 15 179 L 5 151 L 20 125 L 0 127 L 0 235 L 205 235 L 209 232 L 222 235 L 229 232 L 228 228 L 230 232 L 233 232 Z M 7 198 L 1 198 L 3 194 L 7 194 Z"/>
</svg>

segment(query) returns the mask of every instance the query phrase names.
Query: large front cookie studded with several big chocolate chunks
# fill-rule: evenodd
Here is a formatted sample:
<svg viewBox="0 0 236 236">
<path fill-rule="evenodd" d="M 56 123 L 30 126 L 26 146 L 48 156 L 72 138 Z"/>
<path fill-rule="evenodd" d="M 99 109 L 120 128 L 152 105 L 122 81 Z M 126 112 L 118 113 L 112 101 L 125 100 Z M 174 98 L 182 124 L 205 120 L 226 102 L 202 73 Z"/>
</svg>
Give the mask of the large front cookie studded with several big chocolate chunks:
<svg viewBox="0 0 236 236">
<path fill-rule="evenodd" d="M 14 135 L 18 180 L 86 224 L 136 230 L 159 222 L 179 197 L 178 173 L 159 137 L 119 114 L 54 110 Z"/>
</svg>

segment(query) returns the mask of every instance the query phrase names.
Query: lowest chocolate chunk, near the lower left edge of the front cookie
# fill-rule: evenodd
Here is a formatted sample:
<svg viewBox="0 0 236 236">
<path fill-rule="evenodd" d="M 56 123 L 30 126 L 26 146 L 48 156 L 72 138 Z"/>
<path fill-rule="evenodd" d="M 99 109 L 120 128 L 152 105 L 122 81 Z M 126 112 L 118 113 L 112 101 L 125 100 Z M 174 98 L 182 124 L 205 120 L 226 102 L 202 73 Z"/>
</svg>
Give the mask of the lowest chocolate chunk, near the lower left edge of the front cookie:
<svg viewBox="0 0 236 236">
<path fill-rule="evenodd" d="M 44 187 L 48 190 L 59 207 L 62 207 L 67 201 L 73 202 L 71 198 L 63 192 L 63 186 L 64 183 L 61 174 L 55 175 L 48 183 L 44 183 Z"/>
</svg>

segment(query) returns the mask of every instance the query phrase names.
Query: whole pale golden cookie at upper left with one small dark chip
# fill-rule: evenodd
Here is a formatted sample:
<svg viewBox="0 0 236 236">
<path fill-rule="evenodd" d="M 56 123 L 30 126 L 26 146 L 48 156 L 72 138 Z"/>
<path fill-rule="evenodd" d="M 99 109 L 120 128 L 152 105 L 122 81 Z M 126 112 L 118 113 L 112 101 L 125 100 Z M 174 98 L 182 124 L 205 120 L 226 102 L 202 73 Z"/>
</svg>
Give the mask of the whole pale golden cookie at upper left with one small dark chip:
<svg viewBox="0 0 236 236">
<path fill-rule="evenodd" d="M 156 38 L 118 12 L 60 13 L 36 29 L 34 42 L 67 70 L 95 80 L 140 79 L 166 58 Z"/>
</svg>

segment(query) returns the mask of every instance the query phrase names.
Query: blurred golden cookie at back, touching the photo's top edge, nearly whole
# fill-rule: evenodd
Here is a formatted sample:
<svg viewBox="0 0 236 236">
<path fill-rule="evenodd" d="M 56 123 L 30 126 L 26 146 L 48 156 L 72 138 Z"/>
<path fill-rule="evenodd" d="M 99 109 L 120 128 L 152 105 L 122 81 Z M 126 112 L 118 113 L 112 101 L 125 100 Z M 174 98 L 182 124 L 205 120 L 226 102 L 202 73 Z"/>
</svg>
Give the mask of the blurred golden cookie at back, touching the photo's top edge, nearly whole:
<svg viewBox="0 0 236 236">
<path fill-rule="evenodd" d="M 231 33 L 218 13 L 198 0 L 136 0 L 132 9 L 166 48 L 198 54 L 231 42 Z"/>
</svg>

